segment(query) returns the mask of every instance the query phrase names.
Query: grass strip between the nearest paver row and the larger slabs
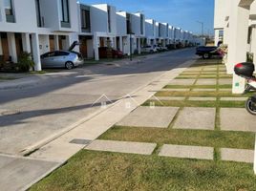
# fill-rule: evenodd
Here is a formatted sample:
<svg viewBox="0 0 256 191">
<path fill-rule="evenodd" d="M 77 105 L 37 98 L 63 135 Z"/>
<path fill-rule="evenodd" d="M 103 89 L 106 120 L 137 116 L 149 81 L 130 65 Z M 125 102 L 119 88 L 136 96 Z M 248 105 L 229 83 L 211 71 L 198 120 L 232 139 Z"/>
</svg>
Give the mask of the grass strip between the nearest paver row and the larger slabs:
<svg viewBox="0 0 256 191">
<path fill-rule="evenodd" d="M 253 133 L 246 132 L 119 126 L 114 126 L 105 134 L 100 136 L 100 139 L 239 149 L 253 149 L 254 138 L 255 135 Z"/>
</svg>

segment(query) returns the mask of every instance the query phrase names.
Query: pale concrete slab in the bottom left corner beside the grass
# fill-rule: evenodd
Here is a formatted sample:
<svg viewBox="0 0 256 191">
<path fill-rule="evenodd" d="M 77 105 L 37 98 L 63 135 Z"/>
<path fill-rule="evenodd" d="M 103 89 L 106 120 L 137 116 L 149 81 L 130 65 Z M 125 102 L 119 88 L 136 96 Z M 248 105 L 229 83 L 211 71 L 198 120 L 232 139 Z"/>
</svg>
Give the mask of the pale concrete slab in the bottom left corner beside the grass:
<svg viewBox="0 0 256 191">
<path fill-rule="evenodd" d="M 0 190 L 26 190 L 60 165 L 55 161 L 0 155 Z"/>
</svg>

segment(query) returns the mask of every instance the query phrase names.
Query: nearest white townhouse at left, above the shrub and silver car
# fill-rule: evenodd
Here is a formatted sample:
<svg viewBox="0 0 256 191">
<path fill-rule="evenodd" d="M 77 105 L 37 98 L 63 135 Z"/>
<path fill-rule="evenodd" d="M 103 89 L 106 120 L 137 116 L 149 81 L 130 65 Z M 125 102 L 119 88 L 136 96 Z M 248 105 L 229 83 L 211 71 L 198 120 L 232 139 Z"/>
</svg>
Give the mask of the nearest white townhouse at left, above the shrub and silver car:
<svg viewBox="0 0 256 191">
<path fill-rule="evenodd" d="M 17 62 L 32 53 L 35 70 L 40 54 L 68 49 L 77 40 L 76 0 L 0 0 L 0 54 Z"/>
</svg>

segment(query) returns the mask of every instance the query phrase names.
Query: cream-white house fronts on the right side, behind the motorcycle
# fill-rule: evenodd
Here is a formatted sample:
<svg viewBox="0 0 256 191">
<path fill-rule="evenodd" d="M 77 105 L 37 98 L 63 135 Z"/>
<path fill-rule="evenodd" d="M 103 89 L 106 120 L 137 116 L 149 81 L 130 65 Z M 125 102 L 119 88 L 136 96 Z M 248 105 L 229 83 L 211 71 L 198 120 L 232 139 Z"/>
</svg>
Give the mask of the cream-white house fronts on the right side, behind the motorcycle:
<svg viewBox="0 0 256 191">
<path fill-rule="evenodd" d="M 254 54 L 256 63 L 256 1 L 215 0 L 215 43 L 227 47 L 224 64 L 228 74 L 233 74 L 233 93 L 245 90 L 245 79 L 234 74 L 234 65 L 247 61 Z"/>
</svg>

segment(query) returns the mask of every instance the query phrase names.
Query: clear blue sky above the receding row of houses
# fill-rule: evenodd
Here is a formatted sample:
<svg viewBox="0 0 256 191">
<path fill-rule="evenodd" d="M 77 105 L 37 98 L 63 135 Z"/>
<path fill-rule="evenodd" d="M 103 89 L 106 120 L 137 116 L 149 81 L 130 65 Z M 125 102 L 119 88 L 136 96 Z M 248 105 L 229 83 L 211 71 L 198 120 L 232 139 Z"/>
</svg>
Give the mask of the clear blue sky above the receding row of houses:
<svg viewBox="0 0 256 191">
<path fill-rule="evenodd" d="M 107 3 L 117 11 L 141 11 L 146 18 L 168 22 L 175 27 L 194 33 L 213 33 L 214 0 L 81 0 L 85 4 Z"/>
</svg>

